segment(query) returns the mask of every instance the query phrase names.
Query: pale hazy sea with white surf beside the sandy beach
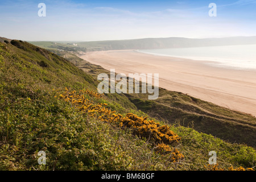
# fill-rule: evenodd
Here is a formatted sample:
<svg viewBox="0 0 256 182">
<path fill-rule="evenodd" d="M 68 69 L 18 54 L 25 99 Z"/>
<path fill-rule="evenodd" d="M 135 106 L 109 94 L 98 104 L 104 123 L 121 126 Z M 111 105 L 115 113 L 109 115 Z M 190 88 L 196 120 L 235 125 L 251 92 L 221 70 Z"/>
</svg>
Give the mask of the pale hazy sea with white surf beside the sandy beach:
<svg viewBox="0 0 256 182">
<path fill-rule="evenodd" d="M 214 67 L 256 70 L 256 44 L 168 49 L 140 49 L 138 52 L 204 61 Z M 206 62 L 205 62 L 206 61 Z"/>
</svg>

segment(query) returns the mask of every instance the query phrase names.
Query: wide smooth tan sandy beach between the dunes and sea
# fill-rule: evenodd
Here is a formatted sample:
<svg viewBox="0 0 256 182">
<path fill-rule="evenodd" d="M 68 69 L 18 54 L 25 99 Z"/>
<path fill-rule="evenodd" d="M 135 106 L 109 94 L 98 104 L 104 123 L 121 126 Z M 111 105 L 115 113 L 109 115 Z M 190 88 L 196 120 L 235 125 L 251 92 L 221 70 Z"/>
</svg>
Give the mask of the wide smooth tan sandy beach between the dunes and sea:
<svg viewBox="0 0 256 182">
<path fill-rule="evenodd" d="M 159 73 L 159 87 L 256 116 L 256 71 L 212 67 L 209 61 L 155 56 L 134 50 L 80 56 L 116 73 Z"/>
</svg>

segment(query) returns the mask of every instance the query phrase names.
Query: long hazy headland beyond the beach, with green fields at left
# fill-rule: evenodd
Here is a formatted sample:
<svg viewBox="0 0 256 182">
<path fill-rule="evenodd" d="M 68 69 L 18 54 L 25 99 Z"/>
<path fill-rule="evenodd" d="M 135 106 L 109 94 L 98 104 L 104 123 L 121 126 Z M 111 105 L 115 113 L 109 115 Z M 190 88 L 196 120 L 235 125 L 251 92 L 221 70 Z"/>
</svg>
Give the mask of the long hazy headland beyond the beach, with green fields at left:
<svg viewBox="0 0 256 182">
<path fill-rule="evenodd" d="M 94 42 L 30 42 L 35 46 L 60 51 L 86 52 L 115 49 L 162 49 L 204 46 L 230 46 L 256 44 L 256 36 L 237 36 L 230 38 L 146 38 L 131 40 L 105 40 Z"/>
</svg>

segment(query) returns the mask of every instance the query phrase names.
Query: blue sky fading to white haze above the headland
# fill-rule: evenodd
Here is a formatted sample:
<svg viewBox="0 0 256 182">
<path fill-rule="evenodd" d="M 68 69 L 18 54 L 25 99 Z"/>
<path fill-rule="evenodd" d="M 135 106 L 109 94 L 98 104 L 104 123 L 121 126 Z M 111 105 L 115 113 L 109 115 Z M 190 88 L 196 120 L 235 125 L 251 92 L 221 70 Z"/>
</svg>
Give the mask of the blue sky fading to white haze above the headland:
<svg viewBox="0 0 256 182">
<path fill-rule="evenodd" d="M 46 16 L 39 16 L 39 3 Z M 216 16 L 209 16 L 210 3 Z M 256 0 L 0 0 L 0 36 L 26 41 L 256 35 Z"/>
</svg>

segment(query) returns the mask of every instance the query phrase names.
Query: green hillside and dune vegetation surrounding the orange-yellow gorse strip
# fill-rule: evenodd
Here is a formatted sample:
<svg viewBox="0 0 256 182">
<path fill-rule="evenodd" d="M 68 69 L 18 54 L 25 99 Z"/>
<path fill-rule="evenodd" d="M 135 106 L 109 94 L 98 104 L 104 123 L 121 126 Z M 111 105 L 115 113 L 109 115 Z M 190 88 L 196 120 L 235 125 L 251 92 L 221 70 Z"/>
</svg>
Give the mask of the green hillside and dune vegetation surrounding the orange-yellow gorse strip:
<svg viewBox="0 0 256 182">
<path fill-rule="evenodd" d="M 27 42 L 0 40 L 1 170 L 205 170 L 212 150 L 217 152 L 219 167 L 255 166 L 253 143 L 253 147 L 230 143 L 214 137 L 212 130 L 206 134 L 197 129 L 230 122 L 245 138 L 240 143 L 249 145 L 246 138 L 255 142 L 249 133 L 255 133 L 254 117 L 164 89 L 156 101 L 147 101 L 145 94 L 85 95 L 93 104 L 108 104 L 116 114 L 133 113 L 161 125 L 172 123 L 170 129 L 181 138 L 175 148 L 184 155 L 174 163 L 170 156 L 155 152 L 148 138 L 82 113 L 59 98 L 66 87 L 96 91 L 95 77 L 108 71 L 81 62 L 71 53 L 56 53 L 68 60 Z M 246 133 L 240 125 L 249 128 Z M 234 134 L 230 132 L 222 135 L 231 140 Z M 38 164 L 38 151 L 46 152 L 46 165 Z"/>
</svg>

